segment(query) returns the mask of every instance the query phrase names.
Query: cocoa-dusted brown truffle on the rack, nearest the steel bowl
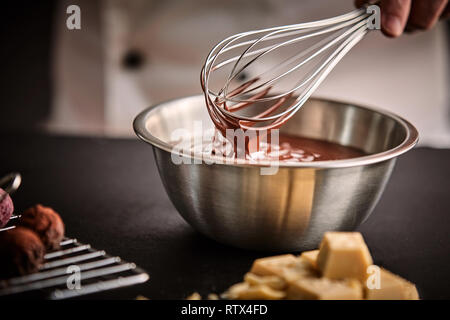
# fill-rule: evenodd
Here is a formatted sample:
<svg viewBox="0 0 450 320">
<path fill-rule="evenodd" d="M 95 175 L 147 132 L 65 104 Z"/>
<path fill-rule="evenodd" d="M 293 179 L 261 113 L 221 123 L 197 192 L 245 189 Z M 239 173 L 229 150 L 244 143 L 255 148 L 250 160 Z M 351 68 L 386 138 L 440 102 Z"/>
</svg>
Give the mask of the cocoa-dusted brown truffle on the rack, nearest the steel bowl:
<svg viewBox="0 0 450 320">
<path fill-rule="evenodd" d="M 58 249 L 64 237 L 64 223 L 59 214 L 40 204 L 25 210 L 17 224 L 36 232 L 47 250 Z"/>
</svg>

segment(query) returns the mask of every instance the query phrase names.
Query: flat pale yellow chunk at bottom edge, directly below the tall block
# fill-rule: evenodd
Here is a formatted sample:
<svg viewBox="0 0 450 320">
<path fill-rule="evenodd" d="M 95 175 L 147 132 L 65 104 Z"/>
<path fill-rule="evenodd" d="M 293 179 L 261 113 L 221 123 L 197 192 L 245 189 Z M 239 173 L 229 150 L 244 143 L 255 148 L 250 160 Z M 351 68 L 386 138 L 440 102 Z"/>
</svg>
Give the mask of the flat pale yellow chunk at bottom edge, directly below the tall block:
<svg viewBox="0 0 450 320">
<path fill-rule="evenodd" d="M 301 278 L 287 289 L 287 299 L 300 300 L 361 300 L 363 289 L 355 279 Z"/>
</svg>

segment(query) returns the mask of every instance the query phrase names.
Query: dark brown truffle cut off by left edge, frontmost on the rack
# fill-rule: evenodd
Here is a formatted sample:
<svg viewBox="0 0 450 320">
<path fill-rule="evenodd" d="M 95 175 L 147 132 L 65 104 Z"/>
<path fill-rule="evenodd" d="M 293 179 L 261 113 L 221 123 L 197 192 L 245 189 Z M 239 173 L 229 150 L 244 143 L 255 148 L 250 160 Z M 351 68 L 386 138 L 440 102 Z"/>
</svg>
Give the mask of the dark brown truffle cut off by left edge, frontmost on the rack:
<svg viewBox="0 0 450 320">
<path fill-rule="evenodd" d="M 0 232 L 0 279 L 38 271 L 45 248 L 30 229 L 17 227 Z"/>
</svg>

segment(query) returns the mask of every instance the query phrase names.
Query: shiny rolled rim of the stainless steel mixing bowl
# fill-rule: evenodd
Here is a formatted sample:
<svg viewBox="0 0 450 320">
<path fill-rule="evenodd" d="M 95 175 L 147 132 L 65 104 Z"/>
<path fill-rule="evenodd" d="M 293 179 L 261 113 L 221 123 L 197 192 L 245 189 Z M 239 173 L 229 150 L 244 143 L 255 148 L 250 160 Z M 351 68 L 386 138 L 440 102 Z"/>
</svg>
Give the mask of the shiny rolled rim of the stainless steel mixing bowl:
<svg viewBox="0 0 450 320">
<path fill-rule="evenodd" d="M 323 102 L 330 102 L 330 103 L 338 103 L 338 104 L 347 104 L 351 105 L 356 108 L 372 111 L 379 113 L 383 116 L 389 117 L 395 122 L 399 123 L 406 131 L 406 137 L 404 140 L 395 146 L 394 148 L 391 148 L 389 150 L 374 153 L 362 157 L 356 157 L 356 158 L 350 158 L 350 159 L 342 159 L 342 160 L 325 160 L 325 161 L 313 161 L 313 162 L 282 162 L 282 161 L 250 161 L 247 159 L 228 159 L 228 161 L 224 161 L 222 157 L 218 156 L 205 156 L 205 155 L 186 155 L 182 154 L 180 152 L 175 152 L 170 144 L 167 142 L 162 141 L 161 139 L 158 139 L 154 135 L 152 135 L 147 130 L 147 120 L 151 114 L 151 112 L 157 108 L 160 108 L 163 105 L 173 103 L 176 101 L 183 101 L 183 100 L 189 100 L 189 99 L 199 99 L 200 97 L 203 97 L 203 95 L 191 95 L 191 96 L 185 96 L 181 98 L 174 98 L 170 100 L 166 100 L 160 103 L 157 103 L 153 106 L 150 106 L 143 111 L 141 111 L 134 119 L 133 121 L 133 129 L 136 135 L 143 140 L 144 142 L 147 142 L 151 144 L 154 147 L 157 147 L 159 149 L 162 149 L 164 151 L 167 151 L 169 153 L 175 153 L 177 156 L 185 157 L 190 160 L 197 160 L 201 161 L 201 164 L 205 164 L 205 159 L 208 160 L 208 162 L 212 162 L 215 165 L 227 165 L 227 166 L 238 166 L 238 167 L 269 167 L 273 166 L 275 163 L 280 168 L 346 168 L 346 167 L 356 167 L 356 166 L 364 166 L 369 164 L 375 164 L 378 162 L 383 162 L 386 160 L 390 160 L 392 158 L 396 158 L 399 155 L 411 150 L 419 141 L 419 132 L 417 129 L 407 120 L 404 118 L 386 110 L 382 110 L 376 107 L 369 107 L 369 106 L 362 106 L 357 103 L 352 102 L 344 102 L 340 100 L 335 99 L 328 99 L 328 98 L 321 98 L 318 96 L 314 96 L 310 99 L 312 100 L 318 100 Z M 205 107 L 206 108 L 206 107 Z M 197 163 L 197 162 L 191 162 L 191 163 Z M 208 164 L 209 165 L 209 164 Z"/>
</svg>

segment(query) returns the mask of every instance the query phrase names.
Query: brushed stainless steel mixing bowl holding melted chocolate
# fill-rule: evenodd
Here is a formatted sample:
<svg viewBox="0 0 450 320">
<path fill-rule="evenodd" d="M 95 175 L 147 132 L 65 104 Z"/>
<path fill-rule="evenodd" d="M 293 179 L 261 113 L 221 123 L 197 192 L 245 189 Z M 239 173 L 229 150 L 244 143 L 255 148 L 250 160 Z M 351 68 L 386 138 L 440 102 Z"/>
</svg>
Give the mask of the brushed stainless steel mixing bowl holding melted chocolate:
<svg viewBox="0 0 450 320">
<path fill-rule="evenodd" d="M 136 134 L 153 146 L 166 191 L 195 229 L 236 247 L 295 251 L 317 248 L 328 230 L 354 230 L 372 212 L 397 156 L 418 141 L 408 121 L 349 103 L 310 99 L 281 132 L 323 139 L 369 155 L 337 161 L 280 163 L 275 175 L 238 164 L 176 165 L 171 134 L 212 127 L 203 96 L 158 104 L 134 121 Z M 198 124 L 198 123 L 197 123 Z M 162 223 L 164 223 L 162 221 Z"/>
</svg>

